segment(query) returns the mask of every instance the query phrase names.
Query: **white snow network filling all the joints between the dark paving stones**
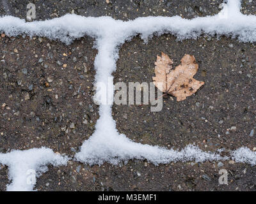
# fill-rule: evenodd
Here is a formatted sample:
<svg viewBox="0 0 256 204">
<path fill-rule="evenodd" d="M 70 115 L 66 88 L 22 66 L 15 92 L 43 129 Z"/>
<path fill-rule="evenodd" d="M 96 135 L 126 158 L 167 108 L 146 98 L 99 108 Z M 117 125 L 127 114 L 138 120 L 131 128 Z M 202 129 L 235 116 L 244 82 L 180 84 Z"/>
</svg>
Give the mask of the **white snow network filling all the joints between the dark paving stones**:
<svg viewBox="0 0 256 204">
<path fill-rule="evenodd" d="M 25 22 L 20 18 L 5 16 L 0 18 L 0 31 L 8 36 L 26 34 L 28 36 L 45 36 L 51 40 L 60 40 L 70 44 L 84 35 L 95 38 L 98 49 L 94 66 L 97 71 L 95 83 L 108 84 L 111 73 L 116 69 L 118 47 L 140 34 L 141 39 L 148 41 L 153 34 L 170 33 L 178 40 L 198 38 L 201 34 L 225 35 L 242 42 L 256 41 L 256 17 L 240 13 L 240 1 L 228 0 L 223 9 L 214 16 L 197 17 L 191 20 L 175 17 L 140 17 L 123 22 L 111 17 L 81 17 L 65 15 L 52 20 Z M 97 96 L 106 94 L 97 90 Z M 119 134 L 115 120 L 111 115 L 113 90 L 108 89 L 110 105 L 100 105 L 95 133 L 84 141 L 81 152 L 75 159 L 88 164 L 104 162 L 117 164 L 128 159 L 147 159 L 154 164 L 172 161 L 218 161 L 232 157 L 237 162 L 256 164 L 255 152 L 242 147 L 232 152 L 230 157 L 221 157 L 218 153 L 203 152 L 195 145 L 188 145 L 180 151 L 164 147 L 142 145 L 132 142 L 125 135 Z M 170 130 L 172 133 L 172 130 Z M 26 171 L 35 169 L 37 176 L 47 170 L 47 164 L 63 165 L 66 157 L 54 154 L 50 149 L 31 149 L 0 154 L 0 163 L 9 166 L 9 178 L 13 180 L 8 190 L 32 190 L 33 184 L 26 183 Z"/>
</svg>

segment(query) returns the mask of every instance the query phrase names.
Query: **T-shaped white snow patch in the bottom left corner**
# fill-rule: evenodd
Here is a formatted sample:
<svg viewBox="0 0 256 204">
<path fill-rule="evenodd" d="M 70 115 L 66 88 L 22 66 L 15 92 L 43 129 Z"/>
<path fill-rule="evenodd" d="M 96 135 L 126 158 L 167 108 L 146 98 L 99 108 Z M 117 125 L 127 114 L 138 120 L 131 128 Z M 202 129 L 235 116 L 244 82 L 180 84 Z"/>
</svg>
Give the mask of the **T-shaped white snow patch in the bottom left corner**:
<svg viewBox="0 0 256 204">
<path fill-rule="evenodd" d="M 0 154 L 0 163 L 8 166 L 9 179 L 12 180 L 7 191 L 32 191 L 36 177 L 48 170 L 48 164 L 59 166 L 67 164 L 67 161 L 67 157 L 45 147 Z"/>
</svg>

